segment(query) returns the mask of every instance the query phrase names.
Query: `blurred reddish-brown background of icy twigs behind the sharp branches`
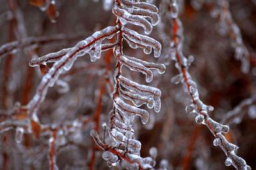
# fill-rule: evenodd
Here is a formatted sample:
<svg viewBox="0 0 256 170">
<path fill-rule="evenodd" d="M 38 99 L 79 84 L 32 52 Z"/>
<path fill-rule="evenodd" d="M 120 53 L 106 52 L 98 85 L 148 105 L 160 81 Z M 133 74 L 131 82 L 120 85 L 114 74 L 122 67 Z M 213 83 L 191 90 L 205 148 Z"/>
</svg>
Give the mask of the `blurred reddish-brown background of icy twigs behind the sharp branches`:
<svg viewBox="0 0 256 170">
<path fill-rule="evenodd" d="M 214 138 L 211 132 L 195 123 L 195 115 L 185 113 L 190 99 L 182 85 L 171 82 L 178 72 L 170 60 L 172 19 L 164 2 L 152 1 L 162 7 L 159 8 L 161 22 L 150 34 L 163 45 L 161 57 L 154 59 L 153 56 L 146 56 L 142 50 L 124 46 L 127 55 L 166 64 L 166 72 L 154 75 L 150 83 L 162 91 L 161 111 L 154 113 L 149 110 L 150 120 L 146 125 L 142 125 L 139 119 L 134 123 L 136 136 L 142 144 L 141 157 L 147 157 L 148 150 L 156 146 L 156 167 L 159 167 L 161 160 L 168 160 L 168 169 L 234 169 L 225 166 L 226 156 L 220 148 L 212 145 Z M 44 6 L 35 1 L 0 0 L 1 125 L 8 120 L 13 108 L 28 104 L 42 79 L 40 69 L 29 67 L 29 60 L 74 46 L 93 32 L 115 25 L 111 9 L 103 5 L 105 1 L 56 0 L 55 3 L 42 11 L 40 7 Z M 189 72 L 198 85 L 200 97 L 205 104 L 214 107 L 211 112 L 214 120 L 230 125 L 226 138 L 239 146 L 238 155 L 252 169 L 256 169 L 256 1 L 229 1 L 233 21 L 239 27 L 249 52 L 251 66 L 248 73 L 241 71 L 241 62 L 234 57 L 232 36 L 230 38 L 227 32 L 223 33 L 220 18 L 214 17 L 218 1 L 191 0 L 178 3 L 184 27 L 184 55 L 195 57 Z M 13 42 L 13 46 L 4 48 L 10 42 Z M 93 63 L 89 55 L 79 57 L 72 69 L 61 75 L 62 83 L 49 89 L 40 106 L 38 117 L 42 124 L 72 122 L 95 114 L 100 83 L 106 69 L 106 53 L 102 53 L 102 58 Z M 115 64 L 115 58 L 111 57 L 111 71 Z M 124 69 L 124 74 L 144 83 L 142 74 L 128 69 Z M 100 124 L 108 123 L 108 112 L 112 105 L 113 101 L 106 90 L 102 96 Z M 234 112 L 236 115 L 230 117 Z M 94 146 L 89 134 L 93 125 L 94 122 L 88 121 L 83 129 L 68 136 L 65 145 L 56 149 L 59 169 L 88 169 Z M 10 127 L 8 131 L 2 131 L 2 126 L 0 128 L 0 168 L 49 169 L 49 136 L 35 139 L 25 133 L 22 142 L 16 143 L 15 128 Z M 100 127 L 100 130 L 103 132 L 104 127 Z M 95 152 L 95 169 L 122 169 L 108 168 L 101 154 L 100 150 Z"/>
</svg>

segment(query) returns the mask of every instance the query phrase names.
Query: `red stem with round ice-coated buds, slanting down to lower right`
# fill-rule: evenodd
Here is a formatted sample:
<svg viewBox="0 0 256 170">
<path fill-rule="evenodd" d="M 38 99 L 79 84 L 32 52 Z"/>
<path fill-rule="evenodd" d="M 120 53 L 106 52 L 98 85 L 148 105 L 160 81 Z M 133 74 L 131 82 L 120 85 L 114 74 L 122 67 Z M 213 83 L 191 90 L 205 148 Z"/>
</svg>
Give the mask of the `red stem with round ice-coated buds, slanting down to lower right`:
<svg viewBox="0 0 256 170">
<path fill-rule="evenodd" d="M 172 28 L 172 43 L 171 43 L 171 57 L 175 60 L 175 67 L 179 70 L 179 75 L 182 76 L 182 81 L 185 87 L 185 91 L 188 92 L 191 97 L 191 104 L 186 107 L 186 112 L 196 113 L 196 123 L 204 124 L 208 127 L 209 131 L 212 132 L 214 136 L 213 145 L 220 146 L 220 148 L 227 155 L 225 160 L 225 165 L 230 166 L 231 164 L 236 167 L 236 169 L 251 169 L 244 159 L 236 155 L 238 147 L 232 143 L 229 143 L 223 133 L 228 132 L 228 126 L 222 125 L 218 122 L 212 120 L 209 117 L 209 113 L 214 109 L 212 106 L 205 105 L 199 98 L 198 88 L 196 87 L 195 81 L 191 79 L 188 72 L 188 68 L 193 61 L 193 57 L 189 56 L 188 59 L 182 53 L 182 46 L 184 41 L 182 23 L 179 19 L 179 7 L 176 0 L 172 0 L 170 6 L 172 7 L 170 11 L 173 18 L 173 28 Z M 173 78 L 177 80 L 177 78 Z"/>
</svg>

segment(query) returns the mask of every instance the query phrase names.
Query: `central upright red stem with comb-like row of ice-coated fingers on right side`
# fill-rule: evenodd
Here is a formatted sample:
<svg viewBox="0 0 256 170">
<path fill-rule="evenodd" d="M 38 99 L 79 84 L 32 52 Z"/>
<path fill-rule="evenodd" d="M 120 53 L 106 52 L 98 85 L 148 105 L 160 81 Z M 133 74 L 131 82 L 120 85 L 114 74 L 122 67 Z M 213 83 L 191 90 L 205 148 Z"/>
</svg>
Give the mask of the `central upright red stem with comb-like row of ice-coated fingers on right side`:
<svg viewBox="0 0 256 170">
<path fill-rule="evenodd" d="M 148 108 L 154 108 L 156 112 L 160 111 L 161 91 L 126 78 L 122 74 L 122 67 L 125 66 L 131 71 L 145 74 L 147 82 L 153 79 L 152 70 L 157 70 L 160 74 L 164 73 L 165 66 L 163 64 L 130 57 L 123 52 L 123 40 L 125 40 L 131 48 L 142 48 L 145 54 L 151 53 L 154 49 L 154 56 L 160 56 L 161 44 L 158 41 L 126 26 L 127 23 L 138 25 L 143 27 L 146 34 L 149 34 L 153 25 L 158 23 L 157 11 L 156 6 L 139 1 L 116 0 L 113 5 L 113 13 L 118 18 L 120 32 L 116 36 L 118 45 L 113 50 L 117 62 L 112 93 L 113 109 L 109 113 L 108 132 L 111 139 L 109 146 L 102 143 L 96 132 L 92 132 L 96 143 L 105 150 L 102 157 L 107 160 L 108 166 L 116 166 L 120 160 L 122 165 L 127 164 L 125 169 L 149 169 L 155 164 L 151 157 L 140 157 L 141 143 L 135 139 L 132 125 L 136 116 L 141 118 L 143 124 L 147 123 L 148 111 L 139 108 L 143 104 L 146 104 Z"/>
</svg>

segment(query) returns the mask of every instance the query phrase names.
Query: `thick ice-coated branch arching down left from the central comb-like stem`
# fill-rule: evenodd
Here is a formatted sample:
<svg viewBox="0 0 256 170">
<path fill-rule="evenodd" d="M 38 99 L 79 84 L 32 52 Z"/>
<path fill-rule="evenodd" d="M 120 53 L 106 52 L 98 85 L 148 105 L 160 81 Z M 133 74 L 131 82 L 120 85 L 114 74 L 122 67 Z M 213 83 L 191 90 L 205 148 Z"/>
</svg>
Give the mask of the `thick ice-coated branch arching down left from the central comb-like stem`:
<svg viewBox="0 0 256 170">
<path fill-rule="evenodd" d="M 120 30 L 120 27 L 107 27 L 101 31 L 95 32 L 92 36 L 79 41 L 72 47 L 60 60 L 54 63 L 49 71 L 42 78 L 41 83 L 36 89 L 35 96 L 28 103 L 29 117 L 35 115 L 40 104 L 44 101 L 48 87 L 52 87 L 60 74 L 65 70 L 68 71 L 74 64 L 77 57 L 81 57 L 86 53 L 90 53 L 90 58 L 95 61 L 101 55 L 101 43 L 106 38 L 111 38 Z M 93 48 L 94 47 L 94 48 Z"/>
</svg>

